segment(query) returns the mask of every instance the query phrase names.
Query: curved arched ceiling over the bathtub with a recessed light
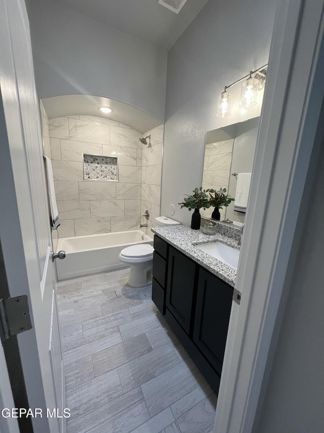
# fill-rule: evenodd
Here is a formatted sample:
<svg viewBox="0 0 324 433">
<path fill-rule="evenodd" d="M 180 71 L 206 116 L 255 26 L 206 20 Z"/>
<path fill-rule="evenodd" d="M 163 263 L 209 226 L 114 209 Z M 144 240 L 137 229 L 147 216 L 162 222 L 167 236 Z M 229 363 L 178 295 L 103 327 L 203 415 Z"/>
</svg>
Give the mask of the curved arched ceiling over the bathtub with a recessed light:
<svg viewBox="0 0 324 433">
<path fill-rule="evenodd" d="M 55 117 L 73 116 L 83 114 L 86 116 L 99 116 L 124 123 L 142 134 L 161 122 L 145 111 L 115 99 L 89 95 L 64 95 L 42 99 L 49 119 Z M 113 112 L 104 114 L 98 107 L 110 107 Z"/>
</svg>

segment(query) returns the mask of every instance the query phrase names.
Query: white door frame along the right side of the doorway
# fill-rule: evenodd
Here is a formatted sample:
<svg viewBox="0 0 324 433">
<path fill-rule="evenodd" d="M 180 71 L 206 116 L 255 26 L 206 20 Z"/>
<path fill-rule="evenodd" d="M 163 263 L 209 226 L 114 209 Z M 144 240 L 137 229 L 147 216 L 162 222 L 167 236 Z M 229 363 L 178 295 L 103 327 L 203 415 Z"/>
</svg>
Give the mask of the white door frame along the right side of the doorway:
<svg viewBox="0 0 324 433">
<path fill-rule="evenodd" d="M 289 284 L 302 195 L 324 97 L 323 0 L 279 0 L 214 433 L 250 433 L 281 296 Z"/>
</svg>

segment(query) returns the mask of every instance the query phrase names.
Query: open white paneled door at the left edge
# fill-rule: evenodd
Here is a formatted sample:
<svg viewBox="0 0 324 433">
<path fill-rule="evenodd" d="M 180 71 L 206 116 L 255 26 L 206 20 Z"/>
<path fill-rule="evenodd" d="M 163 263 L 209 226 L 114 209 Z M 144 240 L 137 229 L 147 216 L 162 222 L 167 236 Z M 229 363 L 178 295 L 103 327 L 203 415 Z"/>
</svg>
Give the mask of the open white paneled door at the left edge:
<svg viewBox="0 0 324 433">
<path fill-rule="evenodd" d="M 10 296 L 26 294 L 32 329 L 18 335 L 35 433 L 65 431 L 63 363 L 43 146 L 23 0 L 0 0 L 0 239 Z M 47 408 L 59 417 L 48 417 Z"/>
</svg>

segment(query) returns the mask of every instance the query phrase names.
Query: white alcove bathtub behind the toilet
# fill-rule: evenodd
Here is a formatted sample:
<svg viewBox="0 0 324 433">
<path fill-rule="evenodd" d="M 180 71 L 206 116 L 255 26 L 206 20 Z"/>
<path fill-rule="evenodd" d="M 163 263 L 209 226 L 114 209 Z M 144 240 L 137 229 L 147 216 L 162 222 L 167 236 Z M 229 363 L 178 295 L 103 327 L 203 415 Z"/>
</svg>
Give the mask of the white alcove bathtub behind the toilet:
<svg viewBox="0 0 324 433">
<path fill-rule="evenodd" d="M 134 244 L 153 245 L 153 239 L 142 230 L 118 231 L 102 235 L 60 238 L 57 251 L 66 253 L 64 260 L 55 260 L 58 280 L 126 268 L 118 255 Z"/>
</svg>

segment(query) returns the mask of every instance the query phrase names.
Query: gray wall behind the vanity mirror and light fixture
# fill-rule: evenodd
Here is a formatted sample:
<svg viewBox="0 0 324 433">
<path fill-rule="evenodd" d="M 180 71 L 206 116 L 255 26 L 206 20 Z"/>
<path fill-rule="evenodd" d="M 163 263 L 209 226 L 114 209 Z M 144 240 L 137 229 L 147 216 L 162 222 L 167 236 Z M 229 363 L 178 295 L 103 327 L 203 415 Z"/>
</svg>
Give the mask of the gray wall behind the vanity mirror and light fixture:
<svg viewBox="0 0 324 433">
<path fill-rule="evenodd" d="M 236 123 L 216 117 L 224 86 L 267 63 L 276 2 L 210 0 L 168 53 L 161 214 L 189 223 L 181 194 L 201 185 L 205 134 Z M 255 113 L 252 117 L 258 116 Z"/>
</svg>

